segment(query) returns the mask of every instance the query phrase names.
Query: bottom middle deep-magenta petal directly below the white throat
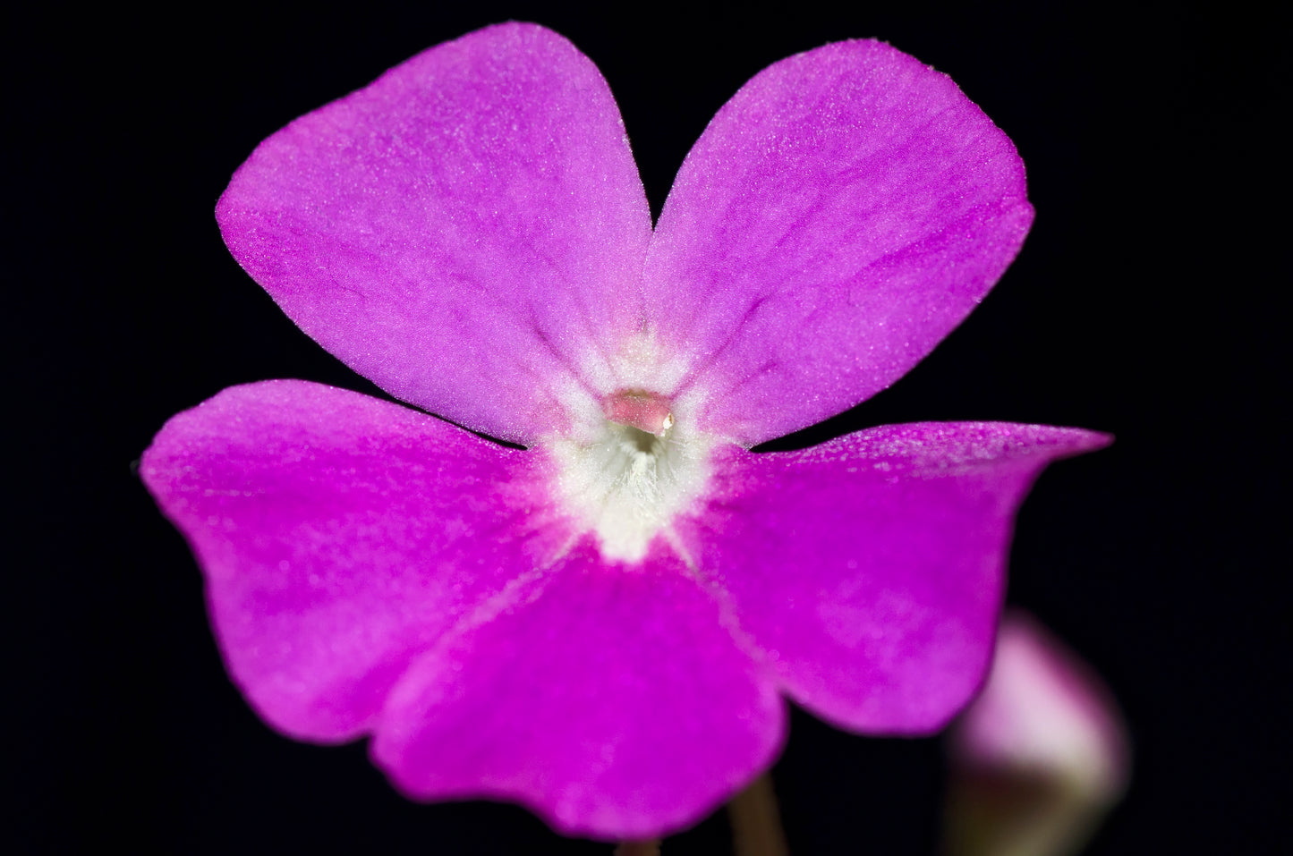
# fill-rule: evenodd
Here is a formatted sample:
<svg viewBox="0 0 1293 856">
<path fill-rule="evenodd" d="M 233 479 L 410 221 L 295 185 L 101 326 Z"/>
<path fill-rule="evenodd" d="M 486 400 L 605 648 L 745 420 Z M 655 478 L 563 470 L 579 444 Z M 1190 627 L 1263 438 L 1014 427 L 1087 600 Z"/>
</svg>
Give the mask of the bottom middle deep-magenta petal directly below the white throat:
<svg viewBox="0 0 1293 856">
<path fill-rule="evenodd" d="M 676 559 L 591 547 L 543 594 L 428 653 L 372 753 L 422 799 L 498 798 L 605 839 L 687 826 L 772 763 L 785 705 Z"/>
</svg>

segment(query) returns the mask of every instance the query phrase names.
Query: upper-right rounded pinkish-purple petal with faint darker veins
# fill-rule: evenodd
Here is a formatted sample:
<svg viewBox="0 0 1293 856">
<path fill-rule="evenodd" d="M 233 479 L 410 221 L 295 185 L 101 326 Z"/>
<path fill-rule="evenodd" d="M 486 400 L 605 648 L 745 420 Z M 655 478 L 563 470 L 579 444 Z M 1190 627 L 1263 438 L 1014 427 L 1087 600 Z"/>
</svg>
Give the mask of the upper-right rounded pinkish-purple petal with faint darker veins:
<svg viewBox="0 0 1293 856">
<path fill-rule="evenodd" d="M 946 75 L 878 41 L 782 59 L 661 213 L 648 308 L 694 359 L 674 393 L 747 446 L 846 410 L 974 309 L 1032 219 L 1014 145 Z"/>
</svg>

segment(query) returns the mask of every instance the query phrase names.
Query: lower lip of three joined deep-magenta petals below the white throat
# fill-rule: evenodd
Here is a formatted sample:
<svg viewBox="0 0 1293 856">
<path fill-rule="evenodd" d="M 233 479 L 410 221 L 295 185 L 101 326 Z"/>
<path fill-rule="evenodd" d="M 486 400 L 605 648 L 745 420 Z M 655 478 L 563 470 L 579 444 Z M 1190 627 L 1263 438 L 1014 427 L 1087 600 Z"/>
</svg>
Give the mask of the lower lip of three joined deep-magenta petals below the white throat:
<svg viewBox="0 0 1293 856">
<path fill-rule="evenodd" d="M 944 724 L 983 679 L 1028 485 L 1107 441 L 926 423 L 729 446 L 635 562 L 560 511 L 551 455 L 319 384 L 226 389 L 167 423 L 141 476 L 274 727 L 372 733 L 414 798 L 632 839 L 771 764 L 781 692 L 857 731 Z"/>
</svg>

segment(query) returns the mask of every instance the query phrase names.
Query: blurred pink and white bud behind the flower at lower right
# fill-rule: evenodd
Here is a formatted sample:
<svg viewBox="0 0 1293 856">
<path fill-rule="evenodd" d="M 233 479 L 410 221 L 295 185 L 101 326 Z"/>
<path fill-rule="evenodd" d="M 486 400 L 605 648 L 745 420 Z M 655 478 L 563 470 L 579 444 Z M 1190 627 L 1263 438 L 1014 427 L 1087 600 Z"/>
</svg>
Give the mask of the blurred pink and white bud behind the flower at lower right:
<svg viewBox="0 0 1293 856">
<path fill-rule="evenodd" d="M 950 733 L 944 852 L 1077 852 L 1130 776 L 1108 688 L 1031 615 L 1005 615 L 992 672 Z"/>
</svg>

